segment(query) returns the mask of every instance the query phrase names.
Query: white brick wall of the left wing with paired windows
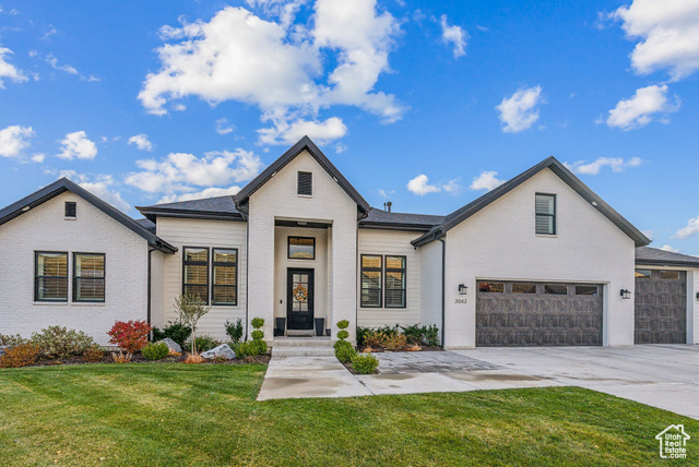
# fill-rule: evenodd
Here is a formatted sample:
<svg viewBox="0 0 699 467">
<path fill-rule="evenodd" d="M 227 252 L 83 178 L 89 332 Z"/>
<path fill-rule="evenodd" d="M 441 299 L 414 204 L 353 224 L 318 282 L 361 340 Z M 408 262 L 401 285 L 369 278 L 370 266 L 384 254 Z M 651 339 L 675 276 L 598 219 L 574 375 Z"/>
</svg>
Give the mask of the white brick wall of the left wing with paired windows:
<svg viewBox="0 0 699 467">
<path fill-rule="evenodd" d="M 66 220 L 64 202 L 78 203 L 78 218 Z M 34 302 L 34 251 L 105 253 L 105 303 Z M 154 253 L 155 254 L 155 253 Z M 21 334 L 50 325 L 84 331 L 107 345 L 114 322 L 145 320 L 147 242 L 82 197 L 66 192 L 0 226 L 0 333 Z"/>
</svg>

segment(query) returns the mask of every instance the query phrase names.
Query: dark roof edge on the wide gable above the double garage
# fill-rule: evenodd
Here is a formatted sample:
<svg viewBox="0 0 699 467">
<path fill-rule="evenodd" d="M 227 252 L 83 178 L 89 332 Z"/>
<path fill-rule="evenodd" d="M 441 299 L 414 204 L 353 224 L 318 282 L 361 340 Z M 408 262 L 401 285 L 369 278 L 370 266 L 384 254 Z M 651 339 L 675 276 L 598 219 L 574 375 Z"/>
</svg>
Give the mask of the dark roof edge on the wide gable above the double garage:
<svg viewBox="0 0 699 467">
<path fill-rule="evenodd" d="M 440 225 L 436 226 L 422 237 L 413 240 L 413 246 L 419 247 L 425 243 L 429 243 L 430 241 L 436 240 L 440 237 L 443 237 L 447 231 L 466 220 L 469 217 L 473 216 L 484 207 L 488 206 L 494 201 L 499 200 L 501 196 L 514 190 L 517 187 L 524 183 L 526 180 L 531 179 L 544 169 L 550 169 L 554 173 L 556 173 L 564 182 L 566 182 L 566 184 L 573 189 L 587 202 L 592 204 L 595 209 L 597 209 L 614 225 L 621 229 L 624 234 L 629 236 L 629 238 L 633 240 L 637 247 L 645 247 L 651 242 L 643 234 L 640 232 L 640 230 L 633 227 L 619 213 L 614 211 L 612 206 L 609 206 L 592 190 L 590 190 L 590 188 L 588 188 L 588 185 L 585 185 L 578 177 L 576 177 L 570 170 L 568 170 L 566 166 L 564 166 L 555 157 L 550 156 L 536 164 L 529 170 L 523 171 L 513 179 L 508 180 L 498 188 L 489 191 L 483 196 L 449 214 Z"/>
</svg>

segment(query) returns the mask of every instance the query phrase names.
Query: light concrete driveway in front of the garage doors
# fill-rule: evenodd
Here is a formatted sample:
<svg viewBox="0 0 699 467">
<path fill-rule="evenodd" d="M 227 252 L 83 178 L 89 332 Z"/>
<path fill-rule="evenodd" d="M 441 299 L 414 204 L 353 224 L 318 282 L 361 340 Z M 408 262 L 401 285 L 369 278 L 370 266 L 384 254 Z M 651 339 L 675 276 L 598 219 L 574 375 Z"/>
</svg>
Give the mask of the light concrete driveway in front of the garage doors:
<svg viewBox="0 0 699 467">
<path fill-rule="evenodd" d="M 477 348 L 454 354 L 699 419 L 699 346 Z"/>
</svg>

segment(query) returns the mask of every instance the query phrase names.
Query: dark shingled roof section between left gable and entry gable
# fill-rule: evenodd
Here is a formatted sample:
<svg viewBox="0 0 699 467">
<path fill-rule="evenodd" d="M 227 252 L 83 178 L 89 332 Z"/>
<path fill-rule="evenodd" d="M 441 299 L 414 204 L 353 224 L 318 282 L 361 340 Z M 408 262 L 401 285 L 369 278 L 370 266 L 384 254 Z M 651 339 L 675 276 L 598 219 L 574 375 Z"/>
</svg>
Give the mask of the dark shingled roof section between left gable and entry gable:
<svg viewBox="0 0 699 467">
<path fill-rule="evenodd" d="M 155 221 L 162 217 L 187 217 L 190 219 L 244 220 L 233 196 L 206 197 L 203 200 L 180 201 L 153 206 L 137 206 L 146 218 Z"/>
</svg>

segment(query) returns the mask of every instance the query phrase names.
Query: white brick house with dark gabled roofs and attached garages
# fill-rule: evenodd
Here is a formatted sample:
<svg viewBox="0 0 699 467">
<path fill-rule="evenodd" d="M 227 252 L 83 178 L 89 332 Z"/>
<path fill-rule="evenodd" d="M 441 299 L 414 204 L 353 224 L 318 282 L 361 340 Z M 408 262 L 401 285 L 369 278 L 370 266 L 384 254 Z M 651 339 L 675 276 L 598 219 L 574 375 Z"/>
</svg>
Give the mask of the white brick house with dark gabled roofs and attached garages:
<svg viewBox="0 0 699 467">
<path fill-rule="evenodd" d="M 138 207 L 61 179 L 0 211 L 0 333 L 100 344 L 115 320 L 265 336 L 436 324 L 448 348 L 699 343 L 699 259 L 650 240 L 549 157 L 447 215 L 371 207 L 304 137 L 235 196 Z"/>
</svg>

